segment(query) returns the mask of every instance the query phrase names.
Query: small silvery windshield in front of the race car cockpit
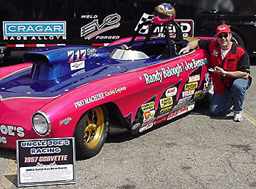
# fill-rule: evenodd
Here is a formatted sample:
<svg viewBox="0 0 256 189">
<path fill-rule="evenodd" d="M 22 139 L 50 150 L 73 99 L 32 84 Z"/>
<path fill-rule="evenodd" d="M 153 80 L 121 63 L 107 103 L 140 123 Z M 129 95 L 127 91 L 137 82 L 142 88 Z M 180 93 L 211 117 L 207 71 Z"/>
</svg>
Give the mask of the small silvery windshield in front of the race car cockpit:
<svg viewBox="0 0 256 189">
<path fill-rule="evenodd" d="M 142 60 L 149 58 L 145 53 L 137 50 L 123 50 L 116 48 L 110 53 L 110 58 L 116 60 Z"/>
</svg>

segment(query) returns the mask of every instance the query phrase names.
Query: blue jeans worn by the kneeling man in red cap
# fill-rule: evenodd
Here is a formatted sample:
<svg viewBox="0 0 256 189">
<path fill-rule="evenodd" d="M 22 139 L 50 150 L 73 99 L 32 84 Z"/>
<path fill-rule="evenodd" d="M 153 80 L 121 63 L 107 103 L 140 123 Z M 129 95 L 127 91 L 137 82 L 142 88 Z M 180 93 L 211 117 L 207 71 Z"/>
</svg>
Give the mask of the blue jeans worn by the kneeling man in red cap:
<svg viewBox="0 0 256 189">
<path fill-rule="evenodd" d="M 225 95 L 214 93 L 210 99 L 209 112 L 211 116 L 225 114 L 233 107 L 233 112 L 241 112 L 246 90 L 250 86 L 248 81 L 242 78 L 236 79 L 230 89 L 225 90 Z"/>
</svg>

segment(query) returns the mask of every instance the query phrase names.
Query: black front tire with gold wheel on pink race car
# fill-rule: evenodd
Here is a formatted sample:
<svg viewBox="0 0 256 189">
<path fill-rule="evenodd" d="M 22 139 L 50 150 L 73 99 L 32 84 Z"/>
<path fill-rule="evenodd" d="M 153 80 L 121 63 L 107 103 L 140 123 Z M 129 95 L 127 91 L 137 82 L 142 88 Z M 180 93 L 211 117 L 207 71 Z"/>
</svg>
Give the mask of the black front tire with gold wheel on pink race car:
<svg viewBox="0 0 256 189">
<path fill-rule="evenodd" d="M 75 127 L 75 147 L 80 158 L 100 153 L 109 131 L 109 117 L 104 106 L 88 110 Z"/>
</svg>

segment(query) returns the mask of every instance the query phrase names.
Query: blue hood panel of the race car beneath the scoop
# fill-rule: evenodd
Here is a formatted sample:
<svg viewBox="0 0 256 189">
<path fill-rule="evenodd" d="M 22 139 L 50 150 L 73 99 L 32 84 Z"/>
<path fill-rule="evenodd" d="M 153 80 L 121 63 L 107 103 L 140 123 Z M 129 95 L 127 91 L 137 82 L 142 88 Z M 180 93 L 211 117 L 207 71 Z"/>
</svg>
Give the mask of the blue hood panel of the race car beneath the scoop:
<svg viewBox="0 0 256 189">
<path fill-rule="evenodd" d="M 63 80 L 50 81 L 33 80 L 29 77 L 29 72 L 23 72 L 18 76 L 7 77 L 6 80 L 0 82 L 0 95 L 2 99 L 58 97 L 88 82 L 126 71 L 126 68 L 105 65 L 87 72 L 80 72 L 78 75 Z"/>
</svg>

